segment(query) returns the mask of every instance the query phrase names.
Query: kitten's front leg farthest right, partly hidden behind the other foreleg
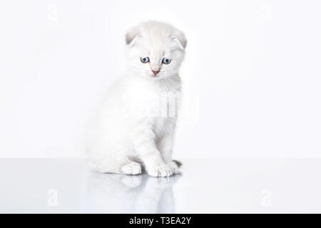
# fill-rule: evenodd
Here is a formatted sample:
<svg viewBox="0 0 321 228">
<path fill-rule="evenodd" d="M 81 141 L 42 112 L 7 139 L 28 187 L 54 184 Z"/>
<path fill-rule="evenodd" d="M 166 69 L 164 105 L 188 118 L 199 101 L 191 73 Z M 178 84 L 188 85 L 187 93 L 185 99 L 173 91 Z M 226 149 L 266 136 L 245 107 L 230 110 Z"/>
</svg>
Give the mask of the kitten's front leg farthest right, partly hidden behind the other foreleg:
<svg viewBox="0 0 321 228">
<path fill-rule="evenodd" d="M 178 169 L 177 163 L 172 159 L 173 138 L 173 133 L 165 133 L 158 140 L 158 150 L 161 151 L 163 161 L 170 166 L 170 169 L 174 174 L 177 174 L 180 173 L 180 170 Z"/>
</svg>

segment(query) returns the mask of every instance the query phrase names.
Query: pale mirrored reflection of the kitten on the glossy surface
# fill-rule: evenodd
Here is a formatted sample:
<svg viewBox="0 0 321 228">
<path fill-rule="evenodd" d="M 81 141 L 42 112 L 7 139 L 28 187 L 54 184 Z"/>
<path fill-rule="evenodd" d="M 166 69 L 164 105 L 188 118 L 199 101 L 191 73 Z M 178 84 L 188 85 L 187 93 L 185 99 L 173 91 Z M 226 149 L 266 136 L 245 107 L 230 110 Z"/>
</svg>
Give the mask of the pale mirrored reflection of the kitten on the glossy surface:
<svg viewBox="0 0 321 228">
<path fill-rule="evenodd" d="M 91 173 L 86 209 L 105 213 L 174 213 L 173 185 L 180 175 L 112 175 Z"/>
</svg>

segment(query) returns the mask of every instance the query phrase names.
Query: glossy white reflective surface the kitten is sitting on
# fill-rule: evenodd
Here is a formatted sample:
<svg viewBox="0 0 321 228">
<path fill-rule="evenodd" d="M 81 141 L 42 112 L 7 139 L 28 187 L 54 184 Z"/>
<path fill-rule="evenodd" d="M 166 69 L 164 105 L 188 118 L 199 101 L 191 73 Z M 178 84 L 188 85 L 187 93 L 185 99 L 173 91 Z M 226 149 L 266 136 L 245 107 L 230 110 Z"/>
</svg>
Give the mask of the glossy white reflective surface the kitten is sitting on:
<svg viewBox="0 0 321 228">
<path fill-rule="evenodd" d="M 80 159 L 1 159 L 0 212 L 321 212 L 320 159 L 183 162 L 183 175 L 155 178 L 94 173 Z"/>
</svg>

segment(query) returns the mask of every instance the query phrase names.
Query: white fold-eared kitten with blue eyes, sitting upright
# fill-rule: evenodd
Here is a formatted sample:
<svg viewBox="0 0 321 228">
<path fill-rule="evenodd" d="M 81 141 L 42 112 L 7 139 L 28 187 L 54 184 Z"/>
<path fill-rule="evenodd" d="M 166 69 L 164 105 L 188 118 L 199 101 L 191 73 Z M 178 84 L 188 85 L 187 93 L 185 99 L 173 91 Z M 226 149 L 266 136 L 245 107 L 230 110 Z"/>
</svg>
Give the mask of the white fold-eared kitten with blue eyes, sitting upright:
<svg viewBox="0 0 321 228">
<path fill-rule="evenodd" d="M 168 110 L 178 103 L 168 98 L 180 93 L 186 39 L 169 24 L 148 21 L 126 33 L 126 44 L 126 73 L 109 88 L 89 133 L 91 167 L 138 175 L 144 165 L 149 175 L 168 177 L 179 172 L 172 160 L 177 115 Z"/>
</svg>

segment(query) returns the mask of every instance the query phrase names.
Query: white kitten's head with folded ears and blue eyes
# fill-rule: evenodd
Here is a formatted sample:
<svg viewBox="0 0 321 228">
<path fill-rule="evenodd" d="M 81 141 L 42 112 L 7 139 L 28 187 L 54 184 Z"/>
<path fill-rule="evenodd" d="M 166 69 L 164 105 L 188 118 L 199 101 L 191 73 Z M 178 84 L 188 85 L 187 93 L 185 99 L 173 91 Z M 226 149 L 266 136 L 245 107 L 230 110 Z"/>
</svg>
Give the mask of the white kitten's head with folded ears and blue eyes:
<svg viewBox="0 0 321 228">
<path fill-rule="evenodd" d="M 148 21 L 126 33 L 131 71 L 147 78 L 175 76 L 185 55 L 186 38 L 169 24 Z"/>
</svg>

